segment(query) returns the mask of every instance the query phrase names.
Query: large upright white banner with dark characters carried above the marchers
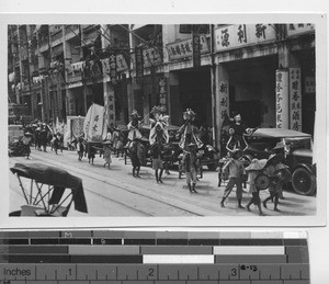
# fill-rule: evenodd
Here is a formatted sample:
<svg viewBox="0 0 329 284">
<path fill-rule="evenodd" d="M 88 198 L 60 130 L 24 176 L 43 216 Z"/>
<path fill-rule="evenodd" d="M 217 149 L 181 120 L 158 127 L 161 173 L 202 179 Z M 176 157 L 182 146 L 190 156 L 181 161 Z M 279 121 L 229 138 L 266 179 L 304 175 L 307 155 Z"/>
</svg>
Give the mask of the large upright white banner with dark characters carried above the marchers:
<svg viewBox="0 0 329 284">
<path fill-rule="evenodd" d="M 101 141 L 106 137 L 106 123 L 104 116 L 104 106 L 92 104 L 83 122 L 84 139 Z"/>
</svg>

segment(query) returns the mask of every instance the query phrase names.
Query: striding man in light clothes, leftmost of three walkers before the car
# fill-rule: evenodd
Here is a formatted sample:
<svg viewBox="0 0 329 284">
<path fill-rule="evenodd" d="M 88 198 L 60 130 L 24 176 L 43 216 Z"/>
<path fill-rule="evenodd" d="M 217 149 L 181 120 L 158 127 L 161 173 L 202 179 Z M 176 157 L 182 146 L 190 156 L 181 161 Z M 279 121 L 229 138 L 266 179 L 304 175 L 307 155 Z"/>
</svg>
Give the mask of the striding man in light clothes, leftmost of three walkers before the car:
<svg viewBox="0 0 329 284">
<path fill-rule="evenodd" d="M 240 158 L 242 157 L 242 151 L 240 149 L 235 149 L 231 151 L 231 158 L 227 161 L 227 163 L 223 167 L 223 171 L 228 169 L 229 179 L 224 191 L 220 207 L 225 207 L 224 202 L 231 193 L 234 186 L 237 186 L 236 195 L 238 200 L 238 207 L 243 208 L 241 205 L 242 201 L 242 174 L 246 173 L 245 167 Z"/>
</svg>

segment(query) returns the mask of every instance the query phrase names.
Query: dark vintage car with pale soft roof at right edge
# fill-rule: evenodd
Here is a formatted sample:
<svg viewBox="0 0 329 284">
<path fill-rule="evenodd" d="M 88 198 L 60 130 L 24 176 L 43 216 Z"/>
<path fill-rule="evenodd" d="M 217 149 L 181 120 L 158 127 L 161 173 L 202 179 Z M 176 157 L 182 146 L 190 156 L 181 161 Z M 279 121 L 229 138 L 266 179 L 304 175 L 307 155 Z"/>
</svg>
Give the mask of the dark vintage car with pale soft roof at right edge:
<svg viewBox="0 0 329 284">
<path fill-rule="evenodd" d="M 309 134 L 291 129 L 258 128 L 246 136 L 245 158 L 266 159 L 277 143 L 284 146 L 285 164 L 292 172 L 292 188 L 302 195 L 316 192 L 316 164 L 313 163 L 313 139 Z"/>
</svg>

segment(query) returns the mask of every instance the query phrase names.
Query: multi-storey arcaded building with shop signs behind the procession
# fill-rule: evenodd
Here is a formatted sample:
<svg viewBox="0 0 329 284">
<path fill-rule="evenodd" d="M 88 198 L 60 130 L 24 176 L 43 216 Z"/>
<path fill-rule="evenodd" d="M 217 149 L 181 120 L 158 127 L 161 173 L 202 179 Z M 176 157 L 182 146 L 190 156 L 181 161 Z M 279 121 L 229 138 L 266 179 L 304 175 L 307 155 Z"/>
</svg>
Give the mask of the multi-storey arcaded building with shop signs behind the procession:
<svg viewBox="0 0 329 284">
<path fill-rule="evenodd" d="M 217 145 L 234 113 L 250 127 L 314 132 L 311 23 L 9 26 L 8 68 L 11 101 L 42 121 L 83 116 L 94 102 L 109 124 L 134 109 L 148 123 L 161 105 L 180 125 L 193 109 Z"/>
</svg>

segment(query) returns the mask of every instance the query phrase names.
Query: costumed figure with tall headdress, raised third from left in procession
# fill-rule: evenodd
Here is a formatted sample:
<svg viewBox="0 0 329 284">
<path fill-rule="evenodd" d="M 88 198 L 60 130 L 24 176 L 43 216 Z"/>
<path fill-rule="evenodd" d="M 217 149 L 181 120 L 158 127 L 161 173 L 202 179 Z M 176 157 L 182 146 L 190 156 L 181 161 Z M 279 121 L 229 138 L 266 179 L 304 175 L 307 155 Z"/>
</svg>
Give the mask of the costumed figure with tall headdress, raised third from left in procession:
<svg viewBox="0 0 329 284">
<path fill-rule="evenodd" d="M 191 109 L 186 109 L 183 113 L 184 124 L 177 132 L 177 137 L 180 137 L 179 146 L 182 149 L 191 143 L 195 144 L 196 148 L 203 146 L 202 140 L 198 138 L 198 128 L 194 125 L 195 116 L 195 112 Z"/>
</svg>

